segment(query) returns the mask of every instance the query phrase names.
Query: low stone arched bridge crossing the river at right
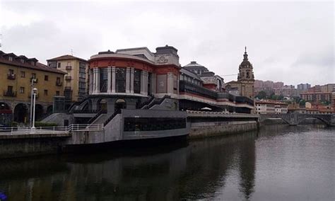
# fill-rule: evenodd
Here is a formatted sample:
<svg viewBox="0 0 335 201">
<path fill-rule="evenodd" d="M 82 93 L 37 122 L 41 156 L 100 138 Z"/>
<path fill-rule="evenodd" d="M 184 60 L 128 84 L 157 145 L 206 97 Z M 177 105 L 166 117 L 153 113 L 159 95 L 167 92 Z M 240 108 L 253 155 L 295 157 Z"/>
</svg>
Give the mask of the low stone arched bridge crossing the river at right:
<svg viewBox="0 0 335 201">
<path fill-rule="evenodd" d="M 264 122 L 265 120 L 269 120 L 271 118 L 280 118 L 284 122 L 288 123 L 288 125 L 298 125 L 300 122 L 305 120 L 306 118 L 315 118 L 321 120 L 326 125 L 335 126 L 335 114 L 300 114 L 300 113 L 289 113 L 289 114 L 266 114 L 259 115 L 259 122 Z"/>
</svg>

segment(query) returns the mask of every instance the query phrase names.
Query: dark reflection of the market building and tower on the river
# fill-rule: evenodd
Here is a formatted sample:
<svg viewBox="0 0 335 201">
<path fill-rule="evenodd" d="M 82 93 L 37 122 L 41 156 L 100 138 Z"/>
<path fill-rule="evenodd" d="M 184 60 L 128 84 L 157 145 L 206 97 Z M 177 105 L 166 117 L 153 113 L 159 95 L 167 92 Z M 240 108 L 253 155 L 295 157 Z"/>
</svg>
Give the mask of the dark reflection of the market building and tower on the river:
<svg viewBox="0 0 335 201">
<path fill-rule="evenodd" d="M 1 161 L 0 191 L 9 200 L 215 200 L 234 194 L 233 178 L 239 191 L 234 198 L 249 200 L 257 189 L 257 139 L 305 130 L 266 127 L 174 149 L 135 149 L 126 156 L 11 159 Z"/>
</svg>

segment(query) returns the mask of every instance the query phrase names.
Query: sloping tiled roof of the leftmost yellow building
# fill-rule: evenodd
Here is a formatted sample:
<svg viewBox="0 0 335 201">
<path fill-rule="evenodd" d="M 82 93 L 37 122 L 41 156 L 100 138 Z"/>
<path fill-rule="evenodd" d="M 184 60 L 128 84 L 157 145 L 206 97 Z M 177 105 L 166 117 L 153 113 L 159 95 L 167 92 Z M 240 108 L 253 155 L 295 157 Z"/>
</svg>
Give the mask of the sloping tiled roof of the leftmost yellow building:
<svg viewBox="0 0 335 201">
<path fill-rule="evenodd" d="M 18 62 L 16 61 L 16 59 L 13 59 L 13 61 L 9 61 L 5 59 L 4 57 L 0 57 L 0 64 L 8 64 L 8 65 L 15 66 L 15 67 L 23 67 L 27 69 L 34 69 L 37 71 L 49 71 L 49 72 L 54 72 L 57 74 L 66 74 L 63 71 L 59 71 L 57 69 L 47 67 L 45 64 L 41 64 L 37 62 L 38 60 L 35 58 L 27 59 L 27 61 L 35 61 L 36 65 L 34 66 L 33 64 L 30 64 L 30 62 L 24 62 L 24 63 Z"/>
</svg>

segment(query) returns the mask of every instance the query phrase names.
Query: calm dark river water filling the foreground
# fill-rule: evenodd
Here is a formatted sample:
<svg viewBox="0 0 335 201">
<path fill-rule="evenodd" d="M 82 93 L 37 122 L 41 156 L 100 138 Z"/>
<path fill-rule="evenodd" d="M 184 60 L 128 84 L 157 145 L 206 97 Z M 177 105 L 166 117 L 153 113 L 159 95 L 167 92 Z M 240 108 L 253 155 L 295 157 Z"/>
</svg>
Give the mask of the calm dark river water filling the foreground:
<svg viewBox="0 0 335 201">
<path fill-rule="evenodd" d="M 0 161 L 8 200 L 335 200 L 335 130 L 264 127 L 184 147 Z"/>
</svg>

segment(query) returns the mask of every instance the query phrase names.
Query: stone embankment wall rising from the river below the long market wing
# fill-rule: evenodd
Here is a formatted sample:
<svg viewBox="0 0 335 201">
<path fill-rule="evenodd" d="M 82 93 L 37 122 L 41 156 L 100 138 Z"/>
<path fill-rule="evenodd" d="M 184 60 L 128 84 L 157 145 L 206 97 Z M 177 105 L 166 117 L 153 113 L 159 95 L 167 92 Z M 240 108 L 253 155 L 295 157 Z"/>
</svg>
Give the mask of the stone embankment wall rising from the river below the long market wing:
<svg viewBox="0 0 335 201">
<path fill-rule="evenodd" d="M 239 122 L 189 122 L 189 138 L 212 137 L 257 130 L 257 121 Z"/>
</svg>

